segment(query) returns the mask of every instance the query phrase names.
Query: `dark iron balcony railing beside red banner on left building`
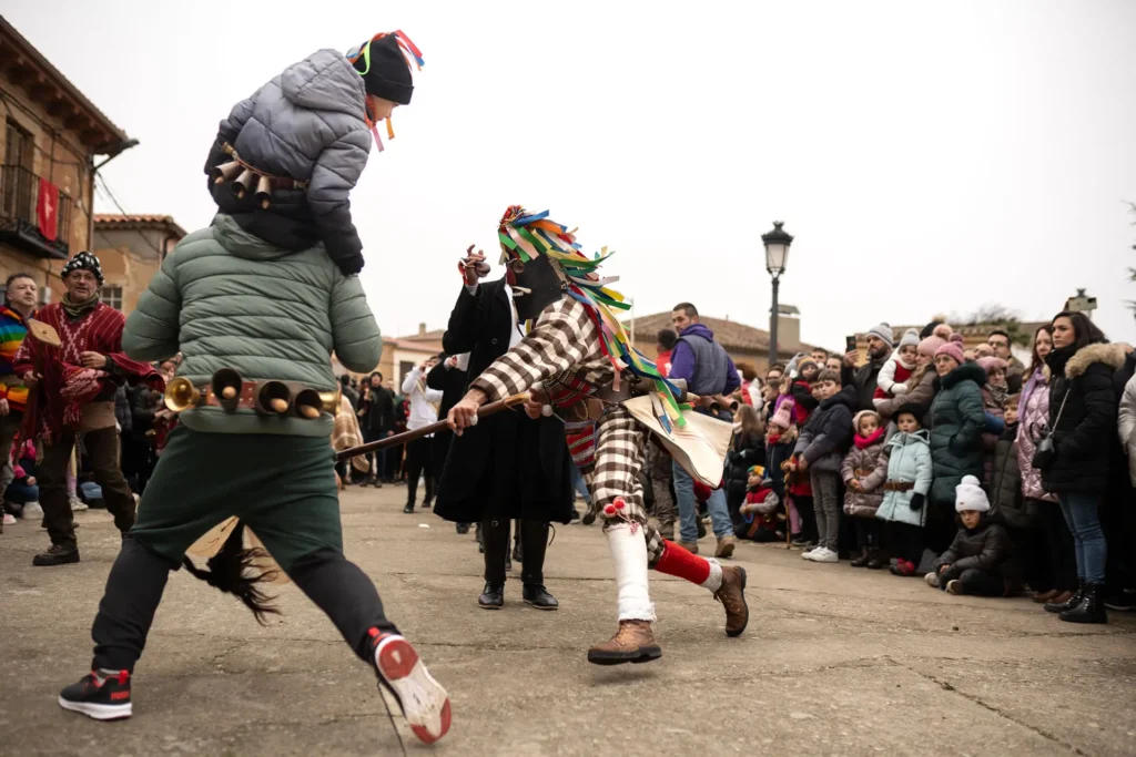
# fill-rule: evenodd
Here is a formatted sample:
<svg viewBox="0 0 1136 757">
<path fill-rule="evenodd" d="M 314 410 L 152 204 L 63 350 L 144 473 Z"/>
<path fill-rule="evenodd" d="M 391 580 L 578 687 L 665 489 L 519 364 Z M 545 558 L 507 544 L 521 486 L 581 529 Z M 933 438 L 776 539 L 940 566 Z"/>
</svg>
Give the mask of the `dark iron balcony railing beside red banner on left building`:
<svg viewBox="0 0 1136 757">
<path fill-rule="evenodd" d="M 23 166 L 0 166 L 0 242 L 41 258 L 66 260 L 70 236 L 72 199 L 59 193 L 56 238 L 40 233 L 36 204 L 40 177 Z"/>
</svg>

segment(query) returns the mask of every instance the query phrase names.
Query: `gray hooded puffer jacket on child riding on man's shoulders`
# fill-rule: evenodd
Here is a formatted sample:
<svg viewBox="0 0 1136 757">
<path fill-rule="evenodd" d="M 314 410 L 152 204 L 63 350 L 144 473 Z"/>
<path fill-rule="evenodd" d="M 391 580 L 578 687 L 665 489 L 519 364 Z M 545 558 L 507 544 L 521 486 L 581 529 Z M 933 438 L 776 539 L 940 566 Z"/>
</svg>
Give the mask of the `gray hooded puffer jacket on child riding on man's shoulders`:
<svg viewBox="0 0 1136 757">
<path fill-rule="evenodd" d="M 290 250 L 323 242 L 344 274 L 362 268 L 362 242 L 351 222 L 348 194 L 370 153 L 362 77 L 342 53 L 320 50 L 239 102 L 220 123 L 206 173 L 231 158 L 278 177 L 309 182 L 304 190 L 277 190 L 268 209 L 249 193 L 237 200 L 229 185 L 210 182 L 223 213 L 242 228 Z"/>
</svg>

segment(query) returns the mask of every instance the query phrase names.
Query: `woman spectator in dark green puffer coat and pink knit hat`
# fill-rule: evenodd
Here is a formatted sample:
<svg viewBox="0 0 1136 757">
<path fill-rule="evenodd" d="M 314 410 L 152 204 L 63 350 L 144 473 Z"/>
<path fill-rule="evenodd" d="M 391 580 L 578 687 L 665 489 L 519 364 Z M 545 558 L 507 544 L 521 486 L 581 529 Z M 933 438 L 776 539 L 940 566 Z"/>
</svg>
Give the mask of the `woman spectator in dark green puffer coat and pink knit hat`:
<svg viewBox="0 0 1136 757">
<path fill-rule="evenodd" d="M 964 476 L 983 476 L 986 414 L 982 387 L 986 384 L 986 371 L 963 362 L 962 350 L 955 342 L 938 348 L 935 370 L 941 388 L 930 407 L 935 482 L 927 513 L 927 546 L 942 552 L 954 531 L 954 488 Z"/>
</svg>

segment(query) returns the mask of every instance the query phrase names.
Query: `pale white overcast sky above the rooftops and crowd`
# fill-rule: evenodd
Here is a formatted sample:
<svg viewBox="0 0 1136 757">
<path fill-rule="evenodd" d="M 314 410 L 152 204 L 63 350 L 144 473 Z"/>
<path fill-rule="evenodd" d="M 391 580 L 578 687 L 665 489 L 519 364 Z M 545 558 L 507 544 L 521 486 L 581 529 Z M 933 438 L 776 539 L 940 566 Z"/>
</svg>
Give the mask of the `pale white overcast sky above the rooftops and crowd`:
<svg viewBox="0 0 1136 757">
<path fill-rule="evenodd" d="M 212 217 L 234 103 L 404 30 L 426 67 L 351 197 L 386 334 L 443 328 L 457 259 L 495 262 L 520 203 L 615 249 L 640 314 L 690 300 L 767 328 L 760 235 L 784 219 L 808 342 L 991 302 L 1047 318 L 1076 287 L 1136 339 L 1130 0 L 3 5 L 141 141 L 105 169 L 126 210 L 186 229 Z"/>
</svg>

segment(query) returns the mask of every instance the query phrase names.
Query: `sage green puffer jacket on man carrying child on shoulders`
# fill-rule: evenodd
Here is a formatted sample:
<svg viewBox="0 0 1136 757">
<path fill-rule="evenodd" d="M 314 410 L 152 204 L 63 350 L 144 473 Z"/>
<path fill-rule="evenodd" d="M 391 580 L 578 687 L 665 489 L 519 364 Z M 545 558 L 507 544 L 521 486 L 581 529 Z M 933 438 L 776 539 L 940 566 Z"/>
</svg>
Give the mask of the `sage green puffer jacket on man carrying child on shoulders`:
<svg viewBox="0 0 1136 757">
<path fill-rule="evenodd" d="M 220 215 L 162 262 L 126 319 L 123 348 L 135 360 L 181 351 L 177 375 L 198 386 L 232 368 L 247 381 L 333 392 L 332 352 L 362 373 L 378 364 L 383 339 L 359 279 L 343 276 L 321 244 L 275 247 Z M 333 426 L 328 413 L 308 420 L 210 406 L 187 410 L 179 421 L 194 431 L 290 436 L 331 436 Z"/>
</svg>

